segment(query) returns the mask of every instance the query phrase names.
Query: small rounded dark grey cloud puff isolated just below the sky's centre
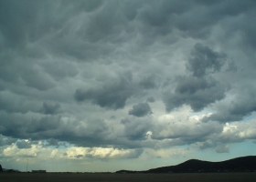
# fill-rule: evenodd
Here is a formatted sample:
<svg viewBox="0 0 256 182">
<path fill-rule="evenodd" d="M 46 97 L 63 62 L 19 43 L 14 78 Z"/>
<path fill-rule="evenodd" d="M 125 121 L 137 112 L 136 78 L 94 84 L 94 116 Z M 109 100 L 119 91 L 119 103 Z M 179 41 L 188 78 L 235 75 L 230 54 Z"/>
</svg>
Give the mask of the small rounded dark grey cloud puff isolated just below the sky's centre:
<svg viewBox="0 0 256 182">
<path fill-rule="evenodd" d="M 147 116 L 153 114 L 151 107 L 148 103 L 139 103 L 133 106 L 133 109 L 129 110 L 129 115 L 133 116 Z"/>
</svg>

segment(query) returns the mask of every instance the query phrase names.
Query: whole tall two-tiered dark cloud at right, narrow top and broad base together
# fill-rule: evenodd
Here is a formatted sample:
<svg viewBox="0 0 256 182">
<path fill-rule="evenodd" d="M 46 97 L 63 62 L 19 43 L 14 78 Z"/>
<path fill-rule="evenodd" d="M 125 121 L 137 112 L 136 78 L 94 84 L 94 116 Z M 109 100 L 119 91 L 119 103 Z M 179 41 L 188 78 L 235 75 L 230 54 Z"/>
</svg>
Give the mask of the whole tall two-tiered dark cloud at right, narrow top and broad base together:
<svg viewBox="0 0 256 182">
<path fill-rule="evenodd" d="M 192 76 L 178 77 L 175 92 L 164 93 L 166 111 L 186 104 L 197 112 L 223 99 L 228 86 L 208 75 L 219 72 L 226 60 L 224 53 L 214 52 L 202 44 L 194 45 L 187 61 L 187 70 L 192 72 Z"/>
</svg>

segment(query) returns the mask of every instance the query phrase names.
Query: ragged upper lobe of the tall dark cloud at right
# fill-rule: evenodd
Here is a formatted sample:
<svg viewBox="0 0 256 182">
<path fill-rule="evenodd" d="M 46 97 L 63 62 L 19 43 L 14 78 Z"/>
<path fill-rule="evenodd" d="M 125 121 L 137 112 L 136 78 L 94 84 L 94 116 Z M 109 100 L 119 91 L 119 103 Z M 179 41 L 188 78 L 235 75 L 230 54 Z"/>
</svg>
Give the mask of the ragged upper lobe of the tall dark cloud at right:
<svg viewBox="0 0 256 182">
<path fill-rule="evenodd" d="M 187 62 L 187 69 L 192 72 L 193 76 L 207 76 L 219 71 L 226 59 L 227 56 L 224 53 L 214 52 L 208 46 L 197 43 Z"/>
</svg>

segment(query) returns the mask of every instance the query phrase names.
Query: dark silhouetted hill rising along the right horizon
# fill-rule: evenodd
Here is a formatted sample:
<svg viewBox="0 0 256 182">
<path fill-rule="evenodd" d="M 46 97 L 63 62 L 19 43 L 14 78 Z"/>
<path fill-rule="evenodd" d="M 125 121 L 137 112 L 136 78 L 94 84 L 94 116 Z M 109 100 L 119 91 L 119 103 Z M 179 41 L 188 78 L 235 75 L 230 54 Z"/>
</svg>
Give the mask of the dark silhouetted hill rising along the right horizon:
<svg viewBox="0 0 256 182">
<path fill-rule="evenodd" d="M 117 173 L 191 173 L 191 172 L 241 172 L 256 171 L 256 156 L 238 157 L 221 162 L 190 159 L 170 167 L 157 167 L 146 171 L 121 170 Z"/>
</svg>

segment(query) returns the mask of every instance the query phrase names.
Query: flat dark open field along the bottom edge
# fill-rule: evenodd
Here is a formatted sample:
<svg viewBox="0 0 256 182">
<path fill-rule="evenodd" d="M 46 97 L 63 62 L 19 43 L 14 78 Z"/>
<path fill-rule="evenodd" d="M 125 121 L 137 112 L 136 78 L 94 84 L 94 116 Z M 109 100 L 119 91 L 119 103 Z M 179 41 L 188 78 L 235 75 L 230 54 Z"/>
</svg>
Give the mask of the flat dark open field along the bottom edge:
<svg viewBox="0 0 256 182">
<path fill-rule="evenodd" d="M 187 174 L 76 174 L 76 173 L 1 173 L 1 182 L 255 182 L 256 173 L 187 173 Z"/>
</svg>

